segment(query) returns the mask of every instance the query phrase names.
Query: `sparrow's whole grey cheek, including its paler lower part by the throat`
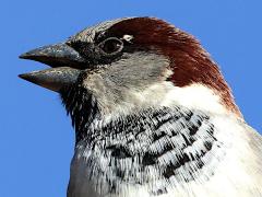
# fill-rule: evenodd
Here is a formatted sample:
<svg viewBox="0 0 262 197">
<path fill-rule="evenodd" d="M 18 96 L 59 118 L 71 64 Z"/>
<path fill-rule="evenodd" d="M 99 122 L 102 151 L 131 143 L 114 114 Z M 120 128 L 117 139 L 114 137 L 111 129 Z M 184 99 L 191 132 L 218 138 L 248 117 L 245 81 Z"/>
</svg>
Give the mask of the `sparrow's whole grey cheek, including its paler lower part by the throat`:
<svg viewBox="0 0 262 197">
<path fill-rule="evenodd" d="M 169 66 L 164 56 L 147 53 L 126 54 L 117 62 L 87 74 L 84 86 L 96 97 L 100 108 L 138 106 L 135 92 L 164 81 Z"/>
</svg>

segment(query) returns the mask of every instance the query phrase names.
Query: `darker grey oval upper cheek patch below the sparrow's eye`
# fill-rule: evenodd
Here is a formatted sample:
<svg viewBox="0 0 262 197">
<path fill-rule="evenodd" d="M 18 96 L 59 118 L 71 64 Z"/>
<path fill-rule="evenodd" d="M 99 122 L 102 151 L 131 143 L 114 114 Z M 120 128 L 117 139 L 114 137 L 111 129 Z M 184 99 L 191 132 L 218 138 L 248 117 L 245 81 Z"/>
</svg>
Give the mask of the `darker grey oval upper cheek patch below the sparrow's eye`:
<svg viewBox="0 0 262 197">
<path fill-rule="evenodd" d="M 103 74 L 116 86 L 143 90 L 164 77 L 169 60 L 162 55 L 148 53 L 124 54 L 123 58 L 109 66 Z"/>
</svg>

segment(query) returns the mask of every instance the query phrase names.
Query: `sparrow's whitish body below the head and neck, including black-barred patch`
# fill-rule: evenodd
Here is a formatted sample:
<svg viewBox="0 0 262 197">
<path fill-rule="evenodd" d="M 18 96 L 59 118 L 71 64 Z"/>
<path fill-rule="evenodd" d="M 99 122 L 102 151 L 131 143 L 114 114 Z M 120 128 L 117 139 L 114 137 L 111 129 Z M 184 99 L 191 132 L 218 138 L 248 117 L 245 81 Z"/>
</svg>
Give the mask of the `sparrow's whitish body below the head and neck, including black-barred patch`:
<svg viewBox="0 0 262 197">
<path fill-rule="evenodd" d="M 80 128 L 69 196 L 260 196 L 261 137 L 234 115 L 174 102 Z"/>
</svg>

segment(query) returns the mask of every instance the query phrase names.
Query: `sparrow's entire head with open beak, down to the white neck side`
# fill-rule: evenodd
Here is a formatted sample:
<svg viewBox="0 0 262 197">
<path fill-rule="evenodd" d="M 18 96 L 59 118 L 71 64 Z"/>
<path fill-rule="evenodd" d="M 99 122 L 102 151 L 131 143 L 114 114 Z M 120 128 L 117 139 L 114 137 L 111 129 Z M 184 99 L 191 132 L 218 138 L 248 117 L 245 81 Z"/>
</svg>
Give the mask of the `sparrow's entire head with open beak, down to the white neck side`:
<svg viewBox="0 0 262 197">
<path fill-rule="evenodd" d="M 159 19 L 107 21 L 21 58 L 51 67 L 20 77 L 59 92 L 72 114 L 75 105 L 79 113 L 96 107 L 102 115 L 186 105 L 241 116 L 201 44 Z"/>
</svg>

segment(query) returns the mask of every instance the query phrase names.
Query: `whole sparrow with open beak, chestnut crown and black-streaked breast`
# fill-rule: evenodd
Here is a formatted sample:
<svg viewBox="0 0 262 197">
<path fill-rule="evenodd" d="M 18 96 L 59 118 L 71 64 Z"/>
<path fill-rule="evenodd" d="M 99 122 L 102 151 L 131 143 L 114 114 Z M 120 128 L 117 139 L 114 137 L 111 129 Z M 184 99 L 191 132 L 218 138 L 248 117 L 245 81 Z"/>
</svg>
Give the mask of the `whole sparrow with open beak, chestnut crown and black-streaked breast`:
<svg viewBox="0 0 262 197">
<path fill-rule="evenodd" d="M 71 116 L 68 197 L 262 196 L 262 137 L 193 35 L 122 18 L 20 58 Z"/>
</svg>

